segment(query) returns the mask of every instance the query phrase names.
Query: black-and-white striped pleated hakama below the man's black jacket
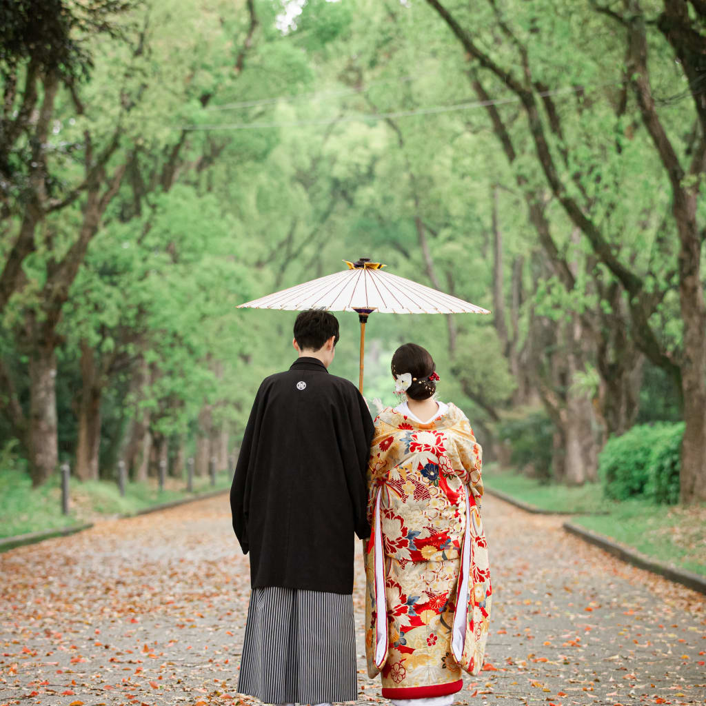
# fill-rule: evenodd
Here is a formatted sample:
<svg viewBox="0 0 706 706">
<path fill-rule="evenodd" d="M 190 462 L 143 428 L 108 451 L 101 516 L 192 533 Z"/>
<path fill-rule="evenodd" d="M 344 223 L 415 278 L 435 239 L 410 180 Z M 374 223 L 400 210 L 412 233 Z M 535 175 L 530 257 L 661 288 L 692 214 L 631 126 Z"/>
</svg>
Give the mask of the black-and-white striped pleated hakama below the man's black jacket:
<svg viewBox="0 0 706 706">
<path fill-rule="evenodd" d="M 266 704 L 357 700 L 353 597 L 254 588 L 238 692 Z"/>
</svg>

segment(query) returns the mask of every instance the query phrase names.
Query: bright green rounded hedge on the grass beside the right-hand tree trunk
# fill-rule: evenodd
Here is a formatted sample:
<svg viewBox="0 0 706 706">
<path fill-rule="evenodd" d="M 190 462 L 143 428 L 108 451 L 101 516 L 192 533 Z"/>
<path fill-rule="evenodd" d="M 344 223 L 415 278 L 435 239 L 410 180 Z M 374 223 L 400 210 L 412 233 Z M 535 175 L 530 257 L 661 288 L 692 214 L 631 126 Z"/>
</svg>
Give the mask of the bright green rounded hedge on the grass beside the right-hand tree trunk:
<svg viewBox="0 0 706 706">
<path fill-rule="evenodd" d="M 678 502 L 683 434 L 683 422 L 639 424 L 609 439 L 598 458 L 605 495 L 614 500 Z"/>
</svg>

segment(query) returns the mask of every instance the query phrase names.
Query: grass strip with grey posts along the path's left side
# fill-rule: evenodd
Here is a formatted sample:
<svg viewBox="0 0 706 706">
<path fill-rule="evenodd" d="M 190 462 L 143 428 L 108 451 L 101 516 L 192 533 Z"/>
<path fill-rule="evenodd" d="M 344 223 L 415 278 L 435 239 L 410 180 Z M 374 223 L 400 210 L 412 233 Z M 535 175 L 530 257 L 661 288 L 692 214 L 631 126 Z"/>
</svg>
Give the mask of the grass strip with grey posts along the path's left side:
<svg viewBox="0 0 706 706">
<path fill-rule="evenodd" d="M 213 489 L 226 489 L 229 486 L 229 474 L 217 474 Z M 167 478 L 164 490 L 160 492 L 157 479 L 149 479 L 144 483 L 128 483 L 125 497 L 121 497 L 117 484 L 112 481 L 80 482 L 72 478 L 69 486 L 69 514 L 62 515 L 61 479 L 58 473 L 44 485 L 32 489 L 28 474 L 6 469 L 0 472 L 0 537 L 58 530 L 83 522 L 95 522 L 104 517 L 136 513 L 153 505 L 193 495 L 185 487 L 186 481 Z M 211 489 L 210 478 L 194 477 L 194 493 L 205 493 Z"/>
</svg>

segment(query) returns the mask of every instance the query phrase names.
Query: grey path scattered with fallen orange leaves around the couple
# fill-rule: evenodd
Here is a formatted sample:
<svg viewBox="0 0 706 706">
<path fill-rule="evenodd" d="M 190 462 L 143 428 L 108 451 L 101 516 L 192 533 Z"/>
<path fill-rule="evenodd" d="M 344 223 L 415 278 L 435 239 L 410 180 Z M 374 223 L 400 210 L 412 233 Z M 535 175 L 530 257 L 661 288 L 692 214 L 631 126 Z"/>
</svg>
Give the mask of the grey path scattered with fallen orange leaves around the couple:
<svg viewBox="0 0 706 706">
<path fill-rule="evenodd" d="M 554 517 L 493 498 L 483 513 L 488 663 L 457 703 L 706 703 L 702 595 L 567 536 Z M 0 705 L 250 703 L 236 693 L 248 561 L 227 496 L 15 549 L 0 575 Z M 360 702 L 383 702 L 363 650 Z"/>
</svg>

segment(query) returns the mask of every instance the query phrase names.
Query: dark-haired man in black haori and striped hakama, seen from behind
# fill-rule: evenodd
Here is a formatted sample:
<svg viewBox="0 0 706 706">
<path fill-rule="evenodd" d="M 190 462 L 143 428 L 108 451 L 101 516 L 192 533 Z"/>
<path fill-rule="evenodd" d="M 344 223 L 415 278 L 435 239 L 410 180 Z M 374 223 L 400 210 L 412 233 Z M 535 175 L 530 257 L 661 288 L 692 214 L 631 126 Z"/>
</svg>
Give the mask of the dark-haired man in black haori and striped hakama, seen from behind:
<svg viewBox="0 0 706 706">
<path fill-rule="evenodd" d="M 358 696 L 353 534 L 370 534 L 373 421 L 357 388 L 328 373 L 338 336 L 328 311 L 297 316 L 299 357 L 260 385 L 230 491 L 252 587 L 238 691 L 268 704 Z"/>
</svg>

